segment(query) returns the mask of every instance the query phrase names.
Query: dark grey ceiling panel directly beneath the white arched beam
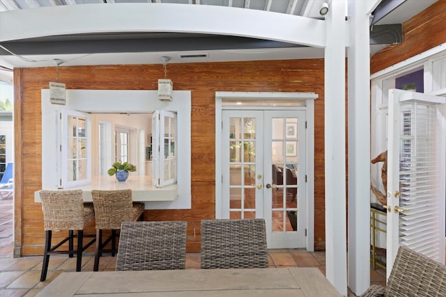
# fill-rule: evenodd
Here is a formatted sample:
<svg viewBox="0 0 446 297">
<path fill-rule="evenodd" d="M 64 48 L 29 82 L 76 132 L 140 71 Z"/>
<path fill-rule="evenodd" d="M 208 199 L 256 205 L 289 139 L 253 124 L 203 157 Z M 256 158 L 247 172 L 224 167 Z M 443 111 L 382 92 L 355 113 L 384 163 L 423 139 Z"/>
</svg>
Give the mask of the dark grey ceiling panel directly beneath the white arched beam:
<svg viewBox="0 0 446 297">
<path fill-rule="evenodd" d="M 169 37 L 168 37 L 169 35 Z M 151 51 L 197 51 L 215 49 L 266 49 L 302 47 L 291 43 L 224 35 L 113 34 L 64 35 L 2 42 L 17 55 L 137 53 Z M 9 55 L 0 48 L 0 55 Z"/>
</svg>

